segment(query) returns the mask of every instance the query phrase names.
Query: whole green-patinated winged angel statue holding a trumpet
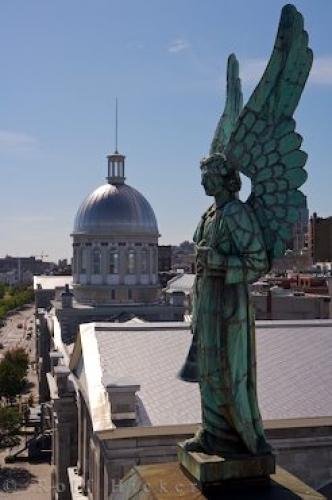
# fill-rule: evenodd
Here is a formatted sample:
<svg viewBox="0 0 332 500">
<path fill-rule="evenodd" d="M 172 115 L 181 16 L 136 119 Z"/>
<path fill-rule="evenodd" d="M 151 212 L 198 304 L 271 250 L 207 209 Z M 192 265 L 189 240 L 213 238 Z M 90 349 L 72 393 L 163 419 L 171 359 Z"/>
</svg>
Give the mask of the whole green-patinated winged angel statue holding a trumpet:
<svg viewBox="0 0 332 500">
<path fill-rule="evenodd" d="M 281 14 L 265 73 L 242 109 L 238 62 L 228 60 L 227 100 L 202 185 L 214 204 L 194 235 L 197 276 L 193 343 L 180 373 L 199 382 L 202 426 L 186 451 L 223 457 L 270 453 L 256 394 L 255 326 L 248 284 L 283 254 L 305 204 L 307 155 L 293 114 L 312 65 L 303 18 L 292 5 Z M 251 179 L 238 199 L 239 172 Z"/>
</svg>

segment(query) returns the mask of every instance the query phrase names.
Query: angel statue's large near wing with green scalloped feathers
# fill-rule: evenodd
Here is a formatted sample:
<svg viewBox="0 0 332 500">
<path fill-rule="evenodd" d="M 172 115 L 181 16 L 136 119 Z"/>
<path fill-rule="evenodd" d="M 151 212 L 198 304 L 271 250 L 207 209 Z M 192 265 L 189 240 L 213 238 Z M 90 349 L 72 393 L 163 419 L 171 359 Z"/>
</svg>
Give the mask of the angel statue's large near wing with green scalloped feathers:
<svg viewBox="0 0 332 500">
<path fill-rule="evenodd" d="M 274 49 L 265 73 L 241 113 L 226 149 L 230 165 L 251 178 L 248 203 L 264 233 L 270 258 L 284 253 L 292 227 L 305 206 L 299 187 L 307 174 L 293 113 L 312 65 L 303 17 L 282 9 Z"/>
</svg>

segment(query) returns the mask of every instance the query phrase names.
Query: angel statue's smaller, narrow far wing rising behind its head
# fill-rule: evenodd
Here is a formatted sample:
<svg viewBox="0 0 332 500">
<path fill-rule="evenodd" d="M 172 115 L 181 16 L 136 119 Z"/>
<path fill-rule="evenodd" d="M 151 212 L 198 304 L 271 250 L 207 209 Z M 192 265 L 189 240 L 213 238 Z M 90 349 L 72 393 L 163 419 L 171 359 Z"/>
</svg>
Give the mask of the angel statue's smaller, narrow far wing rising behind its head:
<svg viewBox="0 0 332 500">
<path fill-rule="evenodd" d="M 234 54 L 231 54 L 227 62 L 227 91 L 226 104 L 220 117 L 210 148 L 210 155 L 223 153 L 233 132 L 239 114 L 242 111 L 243 98 L 241 92 L 241 80 L 239 78 L 239 63 Z"/>
</svg>

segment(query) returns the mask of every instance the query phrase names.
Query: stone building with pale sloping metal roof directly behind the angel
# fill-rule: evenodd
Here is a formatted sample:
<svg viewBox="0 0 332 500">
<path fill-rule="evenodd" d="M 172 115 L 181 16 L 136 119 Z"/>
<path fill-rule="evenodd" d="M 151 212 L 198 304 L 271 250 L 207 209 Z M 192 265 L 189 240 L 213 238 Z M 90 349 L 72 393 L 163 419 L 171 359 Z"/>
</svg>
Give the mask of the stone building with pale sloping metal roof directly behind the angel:
<svg viewBox="0 0 332 500">
<path fill-rule="evenodd" d="M 319 489 L 332 480 L 332 323 L 257 322 L 256 339 L 260 409 L 278 464 Z M 185 322 L 85 324 L 70 346 L 54 332 L 54 485 L 71 492 L 58 498 L 113 498 L 133 466 L 176 460 L 176 443 L 201 418 L 197 384 L 177 378 L 190 343 Z"/>
</svg>

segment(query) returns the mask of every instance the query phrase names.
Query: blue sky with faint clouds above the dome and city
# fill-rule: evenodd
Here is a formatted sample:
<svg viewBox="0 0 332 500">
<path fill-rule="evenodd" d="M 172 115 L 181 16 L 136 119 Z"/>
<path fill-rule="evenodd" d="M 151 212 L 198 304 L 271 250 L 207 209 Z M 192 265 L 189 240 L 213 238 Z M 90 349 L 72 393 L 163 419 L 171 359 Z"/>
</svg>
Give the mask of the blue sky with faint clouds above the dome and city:
<svg viewBox="0 0 332 500">
<path fill-rule="evenodd" d="M 2 0 L 0 256 L 71 256 L 84 197 L 119 149 L 162 243 L 190 239 L 210 203 L 199 160 L 224 99 L 227 56 L 245 99 L 270 55 L 279 0 Z M 297 111 L 310 211 L 332 215 L 332 3 L 302 0 L 315 64 Z"/>
</svg>

